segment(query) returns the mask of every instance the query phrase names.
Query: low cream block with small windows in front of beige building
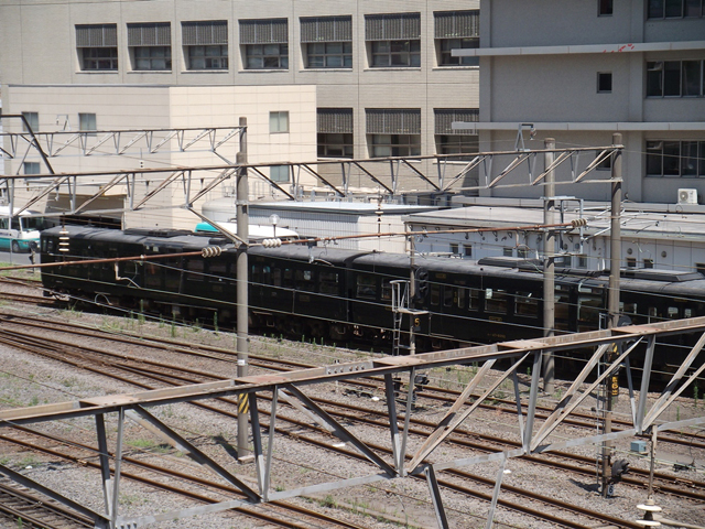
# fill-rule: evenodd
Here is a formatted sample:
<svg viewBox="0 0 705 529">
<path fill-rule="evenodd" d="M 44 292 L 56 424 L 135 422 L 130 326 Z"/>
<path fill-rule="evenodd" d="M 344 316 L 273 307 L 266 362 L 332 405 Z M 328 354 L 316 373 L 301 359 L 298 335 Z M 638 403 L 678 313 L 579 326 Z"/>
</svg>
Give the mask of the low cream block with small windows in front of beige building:
<svg viewBox="0 0 705 529">
<path fill-rule="evenodd" d="M 40 129 L 43 131 L 61 130 L 64 115 L 68 116 L 73 130 L 78 129 L 78 112 L 96 114 L 97 126 L 104 130 L 122 129 L 159 129 L 189 127 L 232 127 L 240 117 L 248 119 L 248 160 L 260 163 L 308 161 L 316 155 L 316 89 L 313 86 L 14 86 L 7 88 L 6 94 L 12 99 L 15 112 L 36 111 L 40 116 Z M 269 112 L 288 111 L 290 114 L 289 133 L 270 133 Z M 61 117 L 61 118 L 57 118 Z M 57 125 L 57 121 L 59 123 Z M 14 122 L 8 130 L 19 132 L 21 126 Z M 99 138 L 96 137 L 96 141 Z M 128 140 L 123 140 L 123 144 Z M 79 155 L 78 143 L 72 144 L 62 155 L 52 158 L 52 166 L 56 173 L 88 172 L 139 169 L 142 164 L 148 169 L 198 165 L 226 165 L 227 163 L 207 152 L 209 143 L 204 140 L 196 143 L 193 150 L 177 152 L 176 140 L 165 145 L 156 154 L 129 151 L 124 155 L 105 155 L 113 152 L 111 141 L 106 142 L 94 155 Z M 239 138 L 235 136 L 220 145 L 218 152 L 235 163 L 239 150 Z M 40 161 L 39 154 L 30 151 L 26 161 Z M 22 174 L 21 161 L 8 161 L 9 174 Z M 159 177 L 164 177 L 162 173 Z M 217 175 L 204 172 L 195 175 L 205 182 Z M 108 177 L 95 179 L 93 182 L 82 180 L 80 194 L 91 195 Z M 139 177 L 141 191 L 147 191 L 149 176 Z M 261 185 L 261 179 L 251 176 L 252 197 Z M 36 193 L 44 185 L 32 183 L 24 191 L 28 196 Z M 154 188 L 158 177 L 150 184 Z M 304 182 L 313 185 L 312 177 Z M 59 190 L 59 193 L 64 193 Z M 126 190 L 116 188 L 110 194 L 124 194 Z M 220 196 L 218 188 L 204 197 L 203 202 Z M 184 194 L 180 186 L 172 186 L 161 193 L 150 204 L 159 207 L 183 205 Z M 199 204 L 197 204 L 199 207 Z M 113 206 L 111 206 L 113 207 Z M 126 218 L 127 226 L 159 225 L 193 228 L 195 217 L 181 209 L 161 212 L 132 213 Z"/>
</svg>

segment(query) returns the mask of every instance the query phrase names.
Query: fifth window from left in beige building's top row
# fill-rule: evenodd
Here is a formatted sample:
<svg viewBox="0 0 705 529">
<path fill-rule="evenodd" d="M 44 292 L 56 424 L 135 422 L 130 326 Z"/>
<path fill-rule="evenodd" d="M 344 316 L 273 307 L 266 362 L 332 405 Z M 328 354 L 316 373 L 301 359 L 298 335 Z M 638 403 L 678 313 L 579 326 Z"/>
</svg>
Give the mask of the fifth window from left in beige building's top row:
<svg viewBox="0 0 705 529">
<path fill-rule="evenodd" d="M 352 17 L 301 19 L 306 68 L 352 67 Z"/>
</svg>

